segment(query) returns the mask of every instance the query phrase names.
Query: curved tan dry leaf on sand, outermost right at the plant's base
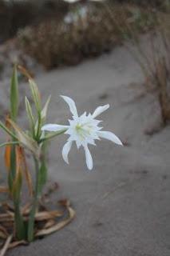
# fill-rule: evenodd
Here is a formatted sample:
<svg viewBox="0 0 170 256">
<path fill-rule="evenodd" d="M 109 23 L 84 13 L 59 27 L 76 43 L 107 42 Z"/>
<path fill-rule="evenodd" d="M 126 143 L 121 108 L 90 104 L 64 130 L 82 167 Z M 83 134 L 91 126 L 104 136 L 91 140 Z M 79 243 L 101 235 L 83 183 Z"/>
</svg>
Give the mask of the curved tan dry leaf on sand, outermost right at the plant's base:
<svg viewBox="0 0 170 256">
<path fill-rule="evenodd" d="M 67 210 L 69 211 L 69 217 L 66 218 L 65 220 L 58 222 L 56 225 L 51 226 L 48 229 L 43 229 L 43 230 L 39 230 L 35 236 L 36 237 L 41 237 L 47 234 L 52 234 L 53 232 L 56 232 L 57 230 L 61 230 L 64 226 L 68 225 L 73 218 L 75 218 L 75 211 L 73 210 L 73 208 L 71 208 L 69 206 L 69 202 L 66 204 Z"/>
</svg>

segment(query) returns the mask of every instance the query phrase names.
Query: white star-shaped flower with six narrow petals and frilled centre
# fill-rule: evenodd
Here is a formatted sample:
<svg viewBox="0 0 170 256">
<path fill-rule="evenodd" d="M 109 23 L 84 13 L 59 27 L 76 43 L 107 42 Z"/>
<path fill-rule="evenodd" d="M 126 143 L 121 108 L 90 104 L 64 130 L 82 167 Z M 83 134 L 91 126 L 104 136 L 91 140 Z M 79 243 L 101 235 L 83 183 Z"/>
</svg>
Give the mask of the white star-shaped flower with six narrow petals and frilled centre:
<svg viewBox="0 0 170 256">
<path fill-rule="evenodd" d="M 105 106 L 98 106 L 97 109 L 93 112 L 93 114 L 81 114 L 78 116 L 77 114 L 77 107 L 73 99 L 67 96 L 61 96 L 69 105 L 69 110 L 73 114 L 73 119 L 69 120 L 69 126 L 61 126 L 57 124 L 46 124 L 42 126 L 42 130 L 47 131 L 60 131 L 65 130 L 65 134 L 69 135 L 67 142 L 62 150 L 62 157 L 64 158 L 65 162 L 69 164 L 69 150 L 73 142 L 76 142 L 77 149 L 80 146 L 83 146 L 85 149 L 85 159 L 86 164 L 89 170 L 93 169 L 93 158 L 89 152 L 88 144 L 96 145 L 95 140 L 100 138 L 106 138 L 110 141 L 122 145 L 122 142 L 115 134 L 110 131 L 101 130 L 102 127 L 98 126 L 101 121 L 97 120 L 97 116 L 104 112 L 105 110 L 109 109 L 109 104 Z"/>
</svg>

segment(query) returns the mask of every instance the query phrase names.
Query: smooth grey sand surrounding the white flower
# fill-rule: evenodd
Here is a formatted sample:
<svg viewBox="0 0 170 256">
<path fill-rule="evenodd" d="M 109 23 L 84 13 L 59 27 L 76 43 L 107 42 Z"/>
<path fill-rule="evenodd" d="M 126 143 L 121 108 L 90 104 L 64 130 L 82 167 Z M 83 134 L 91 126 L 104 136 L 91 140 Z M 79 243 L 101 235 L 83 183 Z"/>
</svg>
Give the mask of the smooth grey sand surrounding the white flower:
<svg viewBox="0 0 170 256">
<path fill-rule="evenodd" d="M 117 47 L 96 60 L 40 75 L 37 82 L 43 98 L 52 94 L 49 122 L 65 124 L 69 118 L 60 94 L 72 97 L 80 113 L 109 103 L 101 116 L 103 126 L 126 146 L 97 142 L 90 148 L 94 169 L 89 172 L 83 151 L 75 147 L 67 166 L 61 158 L 66 137 L 55 139 L 49 150 L 49 179 L 60 184 L 55 200 L 69 198 L 77 218 L 60 232 L 8 255 L 169 256 L 169 126 L 148 135 L 160 127 L 160 108 L 154 95 L 144 93 L 140 67 L 128 51 Z M 2 93 L 5 106 L 5 85 Z"/>
</svg>

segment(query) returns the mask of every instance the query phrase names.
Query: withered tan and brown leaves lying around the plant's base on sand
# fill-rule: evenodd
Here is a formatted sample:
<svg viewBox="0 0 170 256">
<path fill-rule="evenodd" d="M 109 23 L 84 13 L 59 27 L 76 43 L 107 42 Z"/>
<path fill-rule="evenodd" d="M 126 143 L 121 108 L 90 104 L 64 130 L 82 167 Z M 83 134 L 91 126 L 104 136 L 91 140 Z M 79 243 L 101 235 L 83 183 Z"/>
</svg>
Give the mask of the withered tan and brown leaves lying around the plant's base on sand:
<svg viewBox="0 0 170 256">
<path fill-rule="evenodd" d="M 38 211 L 35 214 L 34 240 L 44 238 L 72 222 L 75 211 L 67 199 L 58 202 L 61 210 L 48 210 L 44 203 L 39 202 Z M 30 204 L 22 207 L 22 216 L 27 223 L 30 214 Z M 2 206 L 3 213 L 0 214 L 0 255 L 16 246 L 28 245 L 29 242 L 18 241 L 14 230 L 14 209 L 9 204 Z"/>
</svg>

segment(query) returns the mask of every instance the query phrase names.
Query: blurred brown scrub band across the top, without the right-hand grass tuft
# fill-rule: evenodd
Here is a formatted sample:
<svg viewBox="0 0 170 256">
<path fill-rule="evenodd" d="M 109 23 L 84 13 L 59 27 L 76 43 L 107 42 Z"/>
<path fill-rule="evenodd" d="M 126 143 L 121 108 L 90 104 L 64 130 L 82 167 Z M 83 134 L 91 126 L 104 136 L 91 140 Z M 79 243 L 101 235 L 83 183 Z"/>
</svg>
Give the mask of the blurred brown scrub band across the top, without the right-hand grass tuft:
<svg viewBox="0 0 170 256">
<path fill-rule="evenodd" d="M 1 0 L 0 77 L 10 62 L 50 70 L 109 52 L 168 8 L 168 0 Z"/>
</svg>

